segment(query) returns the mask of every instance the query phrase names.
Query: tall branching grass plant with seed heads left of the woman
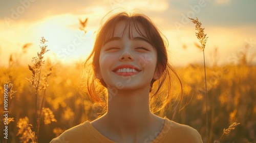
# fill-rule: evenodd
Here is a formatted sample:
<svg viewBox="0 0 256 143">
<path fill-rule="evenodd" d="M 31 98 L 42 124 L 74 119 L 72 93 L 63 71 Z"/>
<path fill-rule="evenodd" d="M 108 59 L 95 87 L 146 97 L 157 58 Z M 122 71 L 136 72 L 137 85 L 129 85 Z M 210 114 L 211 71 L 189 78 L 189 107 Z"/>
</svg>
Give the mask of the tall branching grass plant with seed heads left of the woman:
<svg viewBox="0 0 256 143">
<path fill-rule="evenodd" d="M 29 118 L 25 116 L 24 118 L 19 118 L 17 122 L 17 127 L 19 128 L 17 131 L 17 135 L 21 135 L 19 137 L 20 141 L 28 142 L 31 140 L 32 142 L 38 142 L 38 134 L 40 127 L 40 120 L 42 111 L 45 112 L 45 124 L 50 124 L 51 122 L 56 122 L 52 111 L 49 108 L 44 108 L 45 101 L 45 93 L 46 88 L 48 86 L 47 79 L 51 75 L 52 66 L 48 66 L 48 73 L 45 75 L 42 74 L 42 67 L 45 64 L 44 54 L 47 53 L 47 45 L 45 44 L 47 40 L 44 37 L 41 37 L 40 42 L 40 52 L 37 53 L 36 57 L 32 58 L 33 65 L 28 65 L 29 70 L 32 73 L 31 78 L 27 79 L 33 86 L 35 90 L 35 128 L 32 130 L 33 125 L 29 124 Z M 24 49 L 24 48 L 23 48 Z M 41 91 L 41 95 L 39 94 Z M 39 110 L 38 110 L 39 109 Z"/>
</svg>

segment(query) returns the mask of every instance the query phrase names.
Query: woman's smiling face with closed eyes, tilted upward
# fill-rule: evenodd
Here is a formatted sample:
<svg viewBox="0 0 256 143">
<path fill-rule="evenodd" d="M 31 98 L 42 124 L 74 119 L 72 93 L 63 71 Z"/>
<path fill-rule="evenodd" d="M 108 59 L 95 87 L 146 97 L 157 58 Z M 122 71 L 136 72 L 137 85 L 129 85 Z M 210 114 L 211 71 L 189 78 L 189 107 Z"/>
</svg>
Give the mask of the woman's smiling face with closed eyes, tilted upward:
<svg viewBox="0 0 256 143">
<path fill-rule="evenodd" d="M 129 27 L 124 31 L 125 22 L 117 23 L 114 37 L 101 47 L 97 78 L 117 89 L 149 89 L 152 79 L 157 79 L 157 52 L 135 27 L 131 27 L 129 38 Z M 138 28 L 145 35 L 142 25 Z"/>
</svg>

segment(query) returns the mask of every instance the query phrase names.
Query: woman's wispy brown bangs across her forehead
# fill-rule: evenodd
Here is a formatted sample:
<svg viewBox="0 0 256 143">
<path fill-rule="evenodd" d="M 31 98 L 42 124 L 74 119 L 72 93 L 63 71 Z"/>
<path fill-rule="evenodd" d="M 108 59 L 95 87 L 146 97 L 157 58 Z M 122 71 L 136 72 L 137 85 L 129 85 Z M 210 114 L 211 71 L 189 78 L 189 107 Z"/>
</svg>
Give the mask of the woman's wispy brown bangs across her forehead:
<svg viewBox="0 0 256 143">
<path fill-rule="evenodd" d="M 136 17 L 123 17 L 123 18 L 117 18 L 112 21 L 109 21 L 108 26 L 105 26 L 105 31 L 102 33 L 102 45 L 104 45 L 107 41 L 112 39 L 115 34 L 116 27 L 118 26 L 119 22 L 124 21 L 125 26 L 120 33 L 121 37 L 123 37 L 124 34 L 128 34 L 129 39 L 133 39 L 133 30 L 135 30 L 141 37 L 146 39 L 150 44 L 153 44 L 153 41 L 150 40 L 149 35 L 146 33 L 146 28 L 143 26 L 142 22 L 140 22 Z M 141 25 L 139 27 L 139 25 Z"/>
</svg>

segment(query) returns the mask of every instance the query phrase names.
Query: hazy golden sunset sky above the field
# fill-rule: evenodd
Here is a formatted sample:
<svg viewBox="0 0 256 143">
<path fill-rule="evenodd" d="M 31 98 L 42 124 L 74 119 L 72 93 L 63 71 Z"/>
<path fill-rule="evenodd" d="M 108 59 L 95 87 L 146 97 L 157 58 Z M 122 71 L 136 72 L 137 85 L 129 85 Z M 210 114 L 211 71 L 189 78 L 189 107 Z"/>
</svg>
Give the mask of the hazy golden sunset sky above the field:
<svg viewBox="0 0 256 143">
<path fill-rule="evenodd" d="M 27 65 L 38 52 L 40 38 L 48 40 L 46 57 L 64 64 L 81 61 L 90 54 L 97 30 L 112 14 L 140 12 L 150 17 L 168 40 L 168 53 L 176 66 L 203 62 L 195 43 L 195 25 L 202 22 L 208 40 L 206 64 L 238 63 L 244 53 L 256 63 L 255 0 L 0 0 L 0 66 L 10 55 Z M 78 19 L 88 18 L 87 33 Z M 23 46 L 28 44 L 26 51 Z M 218 56 L 214 56 L 215 49 Z"/>
</svg>

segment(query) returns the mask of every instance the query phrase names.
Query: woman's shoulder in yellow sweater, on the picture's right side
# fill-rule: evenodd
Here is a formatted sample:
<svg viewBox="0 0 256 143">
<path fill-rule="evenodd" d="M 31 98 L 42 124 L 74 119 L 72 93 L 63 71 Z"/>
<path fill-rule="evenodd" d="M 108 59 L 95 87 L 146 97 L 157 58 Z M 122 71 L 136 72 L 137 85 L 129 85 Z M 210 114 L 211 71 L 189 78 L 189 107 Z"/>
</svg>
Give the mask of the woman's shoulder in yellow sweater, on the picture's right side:
<svg viewBox="0 0 256 143">
<path fill-rule="evenodd" d="M 199 132 L 187 125 L 179 124 L 165 117 L 165 124 L 162 133 L 165 134 L 164 141 L 174 142 L 202 142 Z M 163 141 L 163 142 L 164 142 Z"/>
</svg>

